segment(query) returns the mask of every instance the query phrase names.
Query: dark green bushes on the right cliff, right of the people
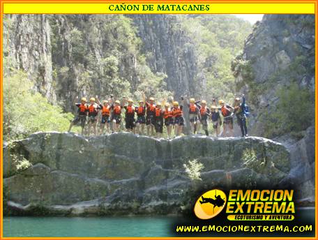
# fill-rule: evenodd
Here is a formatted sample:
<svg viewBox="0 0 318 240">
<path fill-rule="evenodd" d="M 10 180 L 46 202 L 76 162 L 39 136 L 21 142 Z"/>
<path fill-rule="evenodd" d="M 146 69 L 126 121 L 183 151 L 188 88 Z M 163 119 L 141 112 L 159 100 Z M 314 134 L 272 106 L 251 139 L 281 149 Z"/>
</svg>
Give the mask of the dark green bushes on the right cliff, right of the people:
<svg viewBox="0 0 318 240">
<path fill-rule="evenodd" d="M 293 83 L 280 87 L 276 94 L 278 103 L 261 115 L 265 137 L 305 130 L 315 121 L 315 95 Z"/>
</svg>

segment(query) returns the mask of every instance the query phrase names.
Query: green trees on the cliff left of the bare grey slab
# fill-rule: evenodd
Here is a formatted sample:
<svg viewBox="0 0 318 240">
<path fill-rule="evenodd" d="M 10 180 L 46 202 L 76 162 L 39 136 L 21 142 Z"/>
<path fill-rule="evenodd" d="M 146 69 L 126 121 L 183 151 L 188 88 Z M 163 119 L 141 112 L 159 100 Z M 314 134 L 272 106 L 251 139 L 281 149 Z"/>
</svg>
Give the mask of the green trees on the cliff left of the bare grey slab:
<svg viewBox="0 0 318 240">
<path fill-rule="evenodd" d="M 66 89 L 73 96 L 106 98 L 112 94 L 134 100 L 140 100 L 142 92 L 157 99 L 172 95 L 166 91 L 166 76 L 153 73 L 147 65 L 140 52 L 142 41 L 129 17 L 54 15 L 50 26 L 54 80 L 61 105 L 69 105 L 63 102 L 69 99 L 64 96 Z"/>
</svg>

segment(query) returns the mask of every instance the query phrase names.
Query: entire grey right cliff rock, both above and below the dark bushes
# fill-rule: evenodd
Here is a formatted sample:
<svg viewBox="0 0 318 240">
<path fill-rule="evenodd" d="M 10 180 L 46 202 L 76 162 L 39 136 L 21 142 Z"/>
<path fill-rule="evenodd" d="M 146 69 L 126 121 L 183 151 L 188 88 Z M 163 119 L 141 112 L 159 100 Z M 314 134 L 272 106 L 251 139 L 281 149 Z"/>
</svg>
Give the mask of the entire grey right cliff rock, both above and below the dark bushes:
<svg viewBox="0 0 318 240">
<path fill-rule="evenodd" d="M 246 40 L 243 54 L 232 63 L 232 70 L 238 89 L 246 93 L 252 108 L 250 133 L 264 136 L 266 119 L 262 114 L 275 112 L 280 100 L 277 89 L 294 83 L 308 90 L 315 100 L 315 16 L 264 15 Z M 290 104 L 310 105 L 293 100 Z M 275 140 L 285 145 L 292 156 L 287 182 L 298 185 L 305 197 L 314 200 L 315 117 L 308 118 L 312 126 L 298 133 L 301 137 L 283 133 Z"/>
</svg>

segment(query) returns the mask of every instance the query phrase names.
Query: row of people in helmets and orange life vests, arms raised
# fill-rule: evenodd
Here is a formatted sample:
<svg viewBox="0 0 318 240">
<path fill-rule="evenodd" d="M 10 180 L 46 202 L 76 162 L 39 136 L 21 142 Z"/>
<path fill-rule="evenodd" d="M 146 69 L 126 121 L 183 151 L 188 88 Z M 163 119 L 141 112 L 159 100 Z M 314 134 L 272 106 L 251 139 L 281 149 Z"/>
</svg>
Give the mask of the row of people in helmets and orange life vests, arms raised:
<svg viewBox="0 0 318 240">
<path fill-rule="evenodd" d="M 103 100 L 100 103 L 98 96 L 90 98 L 87 103 L 86 98 L 82 98 L 80 103 L 75 103 L 78 107 L 77 116 L 70 123 L 70 128 L 80 123 L 82 127 L 82 135 L 97 135 L 106 133 L 118 132 L 121 126 L 121 114 L 125 113 L 125 127 L 131 133 L 144 135 L 146 134 L 161 137 L 163 128 L 167 129 L 167 136 L 172 136 L 172 128 L 174 135 L 179 136 L 183 132 L 185 125 L 185 107 L 188 107 L 188 117 L 190 121 L 191 133 L 199 133 L 200 128 L 204 130 L 206 135 L 209 135 L 209 120 L 213 124 L 215 136 L 220 136 L 220 127 L 223 124 L 223 137 L 232 137 L 233 133 L 233 117 L 241 127 L 242 137 L 248 136 L 246 126 L 246 116 L 248 114 L 247 106 L 245 105 L 245 97 L 235 98 L 233 105 L 225 104 L 224 100 L 219 100 L 219 106 L 216 105 L 216 100 L 213 99 L 211 108 L 207 107 L 206 100 L 195 100 L 195 98 L 187 99 L 181 97 L 181 104 L 172 101 L 168 103 L 166 100 L 155 104 L 153 97 L 146 100 L 139 100 L 137 106 L 134 105 L 132 99 L 123 98 L 123 100 L 114 100 L 110 96 L 108 100 Z M 221 117 L 222 116 L 222 117 Z M 99 119 L 99 129 L 97 123 Z"/>
</svg>

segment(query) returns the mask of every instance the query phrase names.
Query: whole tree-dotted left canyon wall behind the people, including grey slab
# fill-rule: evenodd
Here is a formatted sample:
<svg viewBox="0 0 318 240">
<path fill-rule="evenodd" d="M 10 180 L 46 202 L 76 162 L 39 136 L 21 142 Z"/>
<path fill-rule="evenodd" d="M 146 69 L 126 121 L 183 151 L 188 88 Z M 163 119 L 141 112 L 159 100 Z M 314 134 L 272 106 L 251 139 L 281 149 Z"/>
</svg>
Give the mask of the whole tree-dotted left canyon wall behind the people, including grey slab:
<svg viewBox="0 0 318 240">
<path fill-rule="evenodd" d="M 78 95 L 106 96 L 114 89 L 109 80 L 126 80 L 134 92 L 148 66 L 167 75 L 176 98 L 195 91 L 194 46 L 177 16 L 6 15 L 4 35 L 14 68 L 68 112 Z"/>
</svg>

